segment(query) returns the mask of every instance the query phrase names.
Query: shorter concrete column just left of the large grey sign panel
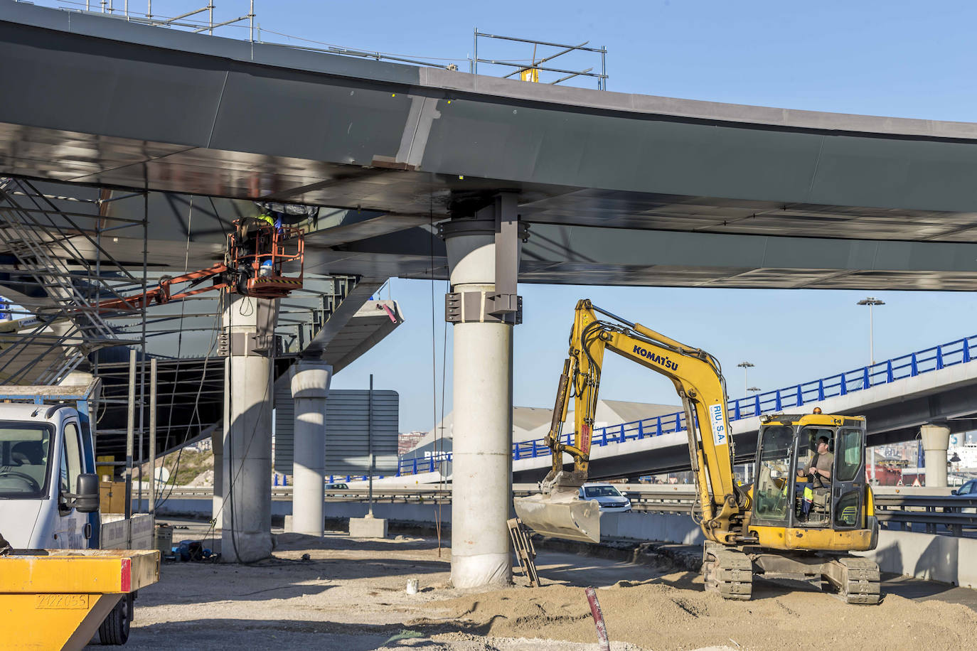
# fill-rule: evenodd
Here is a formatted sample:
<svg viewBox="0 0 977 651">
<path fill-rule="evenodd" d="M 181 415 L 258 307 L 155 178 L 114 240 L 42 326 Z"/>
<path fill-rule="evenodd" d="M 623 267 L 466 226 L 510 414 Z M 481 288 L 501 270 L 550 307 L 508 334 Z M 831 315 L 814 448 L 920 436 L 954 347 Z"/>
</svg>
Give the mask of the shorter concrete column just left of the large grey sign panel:
<svg viewBox="0 0 977 651">
<path fill-rule="evenodd" d="M 325 526 L 325 399 L 332 367 L 301 360 L 291 371 L 295 401 L 292 531 L 322 536 Z"/>
</svg>

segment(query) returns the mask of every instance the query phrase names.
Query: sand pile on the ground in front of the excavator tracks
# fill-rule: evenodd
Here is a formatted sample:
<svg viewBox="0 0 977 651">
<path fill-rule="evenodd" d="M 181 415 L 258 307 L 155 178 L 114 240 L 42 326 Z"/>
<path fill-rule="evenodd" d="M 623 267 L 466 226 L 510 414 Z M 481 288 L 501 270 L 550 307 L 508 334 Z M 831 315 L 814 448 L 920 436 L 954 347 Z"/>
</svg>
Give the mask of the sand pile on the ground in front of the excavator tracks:
<svg viewBox="0 0 977 651">
<path fill-rule="evenodd" d="M 597 590 L 614 640 L 642 648 L 726 645 L 763 651 L 804 646 L 859 649 L 974 648 L 977 614 L 959 604 L 915 602 L 888 595 L 877 606 L 849 605 L 817 591 L 758 583 L 751 601 L 725 601 L 701 591 L 689 574 Z M 504 637 L 595 641 L 583 590 L 514 588 L 428 604 L 470 632 Z M 412 624 L 434 624 L 434 619 Z M 408 623 L 409 626 L 410 623 Z"/>
</svg>

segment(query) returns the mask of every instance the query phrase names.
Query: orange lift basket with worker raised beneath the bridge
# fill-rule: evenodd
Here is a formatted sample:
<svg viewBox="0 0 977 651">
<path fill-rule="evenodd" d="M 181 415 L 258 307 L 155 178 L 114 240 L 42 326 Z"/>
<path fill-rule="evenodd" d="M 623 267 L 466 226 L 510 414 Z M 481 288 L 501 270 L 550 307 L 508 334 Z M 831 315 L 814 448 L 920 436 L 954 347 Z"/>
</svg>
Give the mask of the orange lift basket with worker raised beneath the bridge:
<svg viewBox="0 0 977 651">
<path fill-rule="evenodd" d="M 228 235 L 230 291 L 280 299 L 302 288 L 305 237 L 302 230 L 261 218 L 234 222 Z"/>
</svg>

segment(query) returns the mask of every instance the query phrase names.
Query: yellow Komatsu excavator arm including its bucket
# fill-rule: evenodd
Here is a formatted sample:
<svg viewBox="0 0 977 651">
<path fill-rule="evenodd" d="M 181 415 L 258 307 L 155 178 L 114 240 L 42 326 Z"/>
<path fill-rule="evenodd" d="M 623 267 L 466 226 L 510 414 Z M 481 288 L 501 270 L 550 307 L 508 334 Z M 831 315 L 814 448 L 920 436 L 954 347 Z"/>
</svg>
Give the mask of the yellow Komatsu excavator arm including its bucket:
<svg viewBox="0 0 977 651">
<path fill-rule="evenodd" d="M 613 320 L 601 319 L 598 312 Z M 523 521 L 540 533 L 599 540 L 599 520 L 590 509 L 581 506 L 576 493 L 587 477 L 601 368 L 608 349 L 672 381 L 685 407 L 702 531 L 717 543 L 741 542 L 743 513 L 749 505 L 746 493 L 733 477 L 733 441 L 719 362 L 701 348 L 686 346 L 641 324 L 625 321 L 587 300 L 576 305 L 570 352 L 545 438 L 553 453 L 553 465 L 541 483 L 542 496 L 516 501 Z M 571 397 L 573 443 L 564 443 L 561 429 Z M 573 458 L 571 471 L 563 469 L 564 454 Z M 584 521 L 586 524 L 581 524 Z"/>
</svg>

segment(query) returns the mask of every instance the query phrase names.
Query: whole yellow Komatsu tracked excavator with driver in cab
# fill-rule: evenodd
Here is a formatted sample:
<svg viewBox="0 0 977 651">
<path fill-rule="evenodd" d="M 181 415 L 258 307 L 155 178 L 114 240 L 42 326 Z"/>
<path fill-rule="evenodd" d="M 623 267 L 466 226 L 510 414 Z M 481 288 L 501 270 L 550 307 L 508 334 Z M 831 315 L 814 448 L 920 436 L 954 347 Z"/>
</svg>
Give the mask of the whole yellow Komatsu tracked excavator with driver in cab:
<svg viewBox="0 0 977 651">
<path fill-rule="evenodd" d="M 524 524 L 544 536 L 600 541 L 597 502 L 578 495 L 587 479 L 605 350 L 666 376 L 682 398 L 696 478 L 693 517 L 705 538 L 706 590 L 749 599 L 757 574 L 819 588 L 827 582 L 848 603 L 878 603 L 878 566 L 850 553 L 875 549 L 878 540 L 865 478 L 865 418 L 820 409 L 762 416 L 755 481 L 740 485 L 733 474 L 734 444 L 719 361 L 587 300 L 576 305 L 570 354 L 545 438 L 553 467 L 540 482 L 541 494 L 514 501 Z M 561 433 L 571 397 L 573 444 L 563 442 Z M 573 458 L 572 470 L 564 469 L 564 454 Z"/>
</svg>

